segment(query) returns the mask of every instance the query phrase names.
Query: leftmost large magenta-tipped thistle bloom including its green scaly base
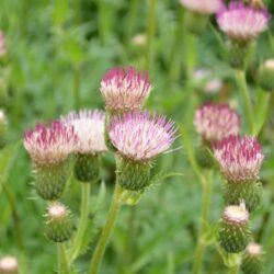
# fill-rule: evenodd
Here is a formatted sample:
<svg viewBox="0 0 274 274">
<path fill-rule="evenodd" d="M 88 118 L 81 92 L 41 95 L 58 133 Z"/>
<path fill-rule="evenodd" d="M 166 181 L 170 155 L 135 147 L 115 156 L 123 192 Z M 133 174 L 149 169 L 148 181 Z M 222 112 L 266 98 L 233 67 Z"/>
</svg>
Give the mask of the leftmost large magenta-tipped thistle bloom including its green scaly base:
<svg viewBox="0 0 274 274">
<path fill-rule="evenodd" d="M 69 175 L 68 156 L 77 146 L 72 127 L 55 122 L 37 124 L 24 134 L 24 147 L 34 163 L 35 189 L 44 199 L 61 196 Z"/>
</svg>

